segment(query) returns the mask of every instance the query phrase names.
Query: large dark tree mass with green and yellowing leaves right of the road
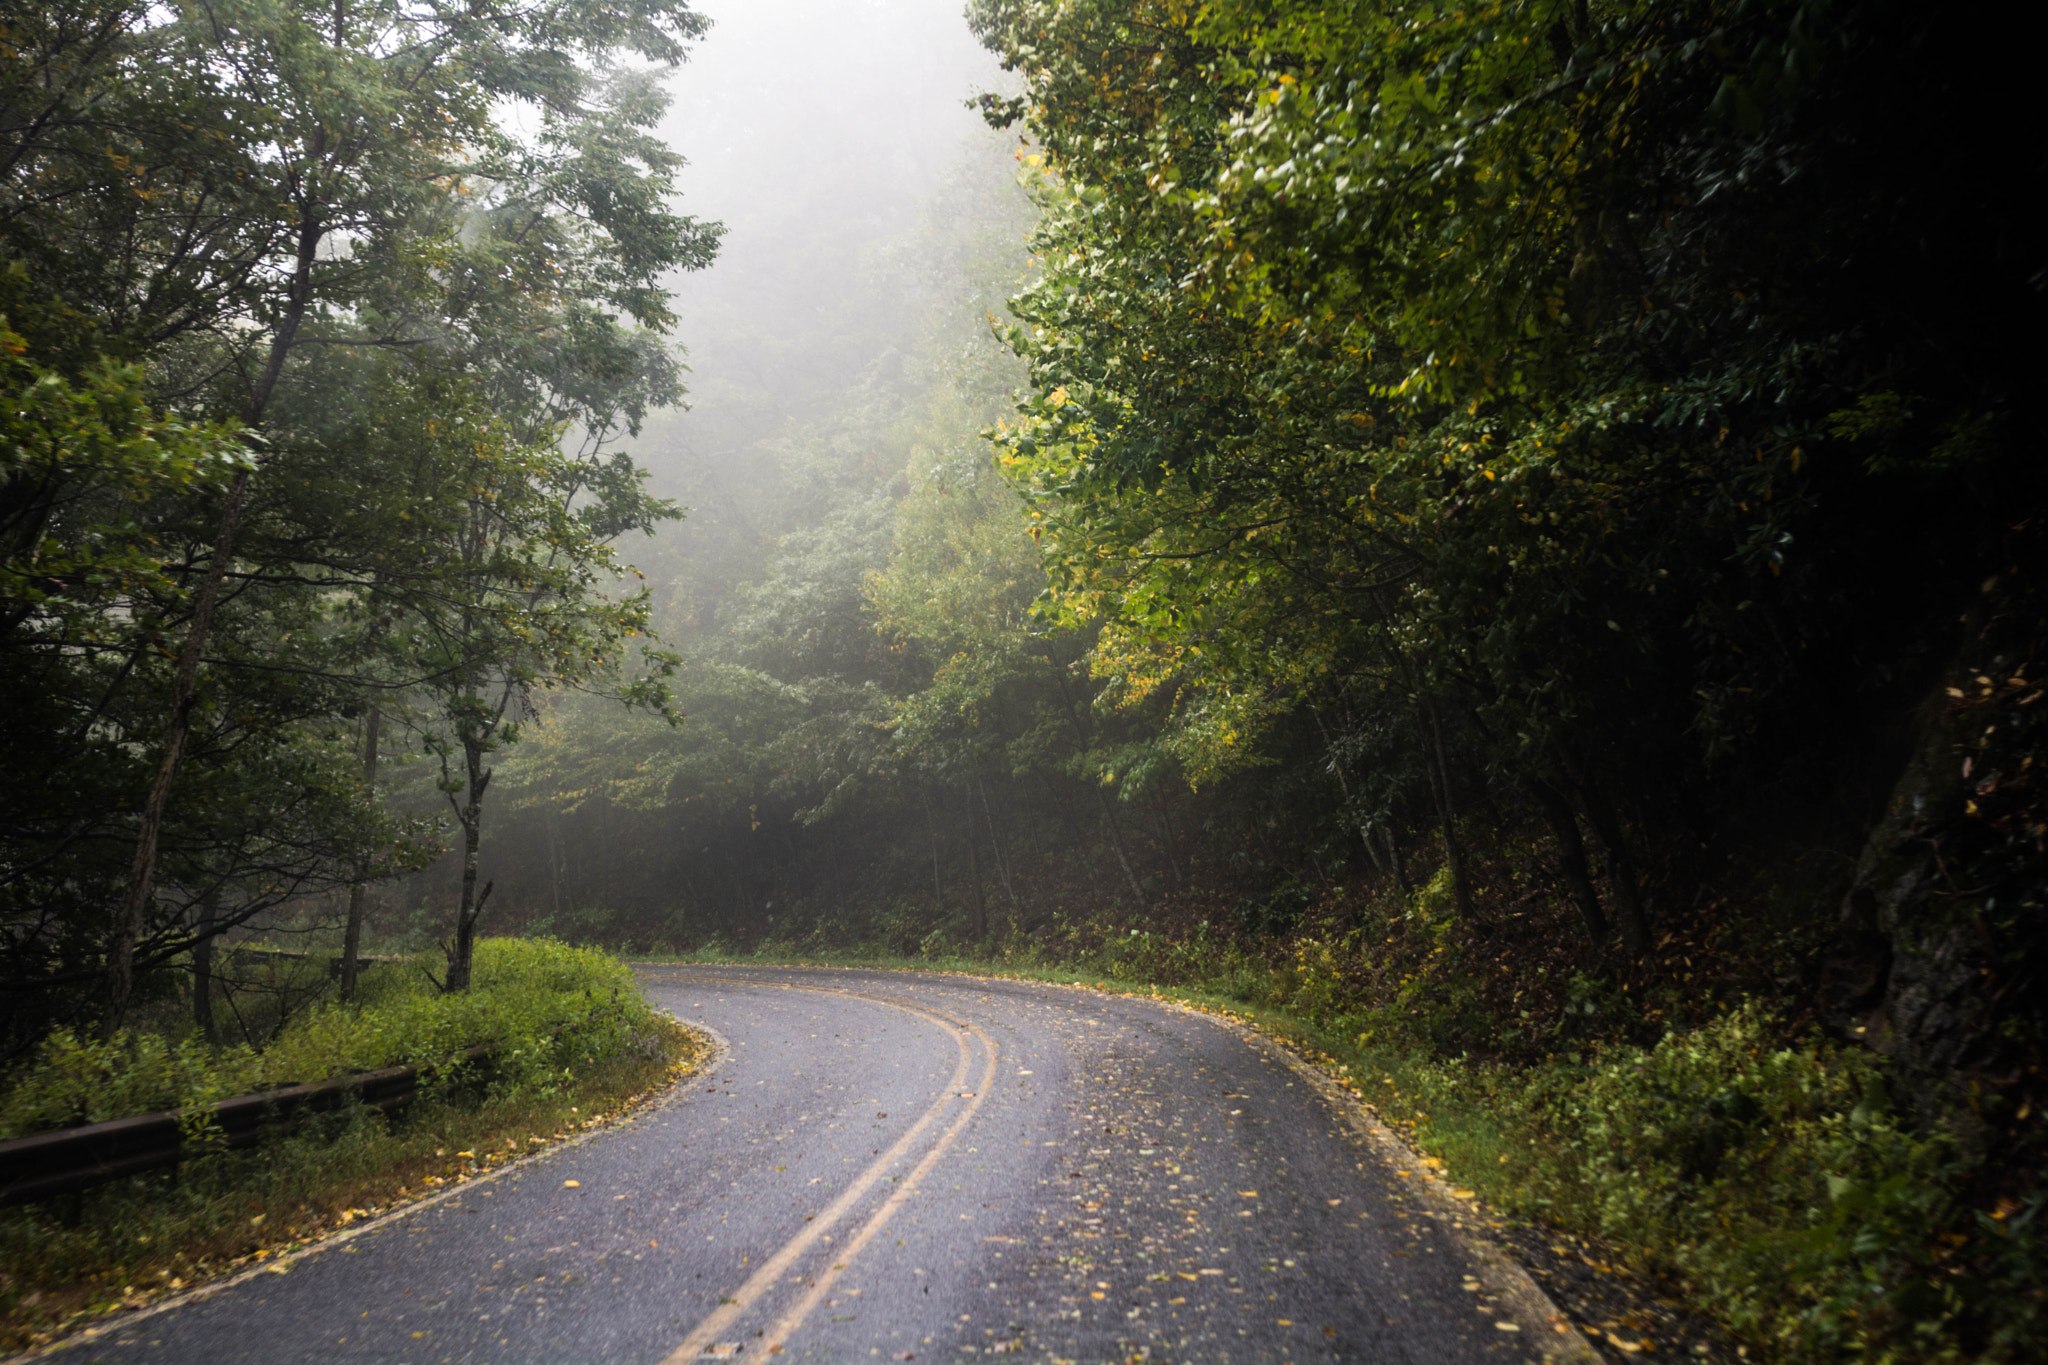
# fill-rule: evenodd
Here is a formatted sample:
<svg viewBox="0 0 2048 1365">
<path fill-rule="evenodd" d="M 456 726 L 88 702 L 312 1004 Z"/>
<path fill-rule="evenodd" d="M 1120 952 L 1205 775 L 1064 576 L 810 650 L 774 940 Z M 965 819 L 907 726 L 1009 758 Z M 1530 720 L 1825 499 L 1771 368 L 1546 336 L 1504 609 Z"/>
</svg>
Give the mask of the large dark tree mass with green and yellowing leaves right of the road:
<svg viewBox="0 0 2048 1365">
<path fill-rule="evenodd" d="M 1454 880 L 1485 772 L 1597 929 L 1591 831 L 1645 952 L 1645 841 L 1698 849 L 1722 784 L 1909 669 L 1901 612 L 1970 581 L 1923 573 L 1954 538 L 1921 499 L 1982 510 L 2025 348 L 1962 372 L 1929 338 L 1966 348 L 1962 295 L 2038 334 L 2038 252 L 1905 231 L 2021 211 L 1991 143 L 1950 162 L 1880 94 L 1956 35 L 1790 2 L 973 16 L 1026 80 L 991 121 L 1047 158 L 997 442 L 1096 667 L 1169 679 L 1194 772 L 1370 698 Z M 1898 385 L 1944 452 L 1913 473 L 1845 444 L 1905 438 Z"/>
</svg>

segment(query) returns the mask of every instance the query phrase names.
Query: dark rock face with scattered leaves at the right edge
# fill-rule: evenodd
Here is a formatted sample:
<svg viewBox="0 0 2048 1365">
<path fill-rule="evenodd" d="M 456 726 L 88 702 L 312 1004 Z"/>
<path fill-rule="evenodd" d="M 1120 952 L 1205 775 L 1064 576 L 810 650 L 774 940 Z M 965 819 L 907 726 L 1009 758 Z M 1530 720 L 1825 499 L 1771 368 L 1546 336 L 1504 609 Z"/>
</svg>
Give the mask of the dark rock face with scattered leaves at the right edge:
<svg viewBox="0 0 2048 1365">
<path fill-rule="evenodd" d="M 2017 573 L 1921 710 L 1823 962 L 1827 1023 L 1896 1060 L 1921 1121 L 1980 1156 L 2040 1109 L 2048 1038 L 2048 620 Z M 2030 1070 L 2036 1068 L 2036 1070 Z"/>
</svg>

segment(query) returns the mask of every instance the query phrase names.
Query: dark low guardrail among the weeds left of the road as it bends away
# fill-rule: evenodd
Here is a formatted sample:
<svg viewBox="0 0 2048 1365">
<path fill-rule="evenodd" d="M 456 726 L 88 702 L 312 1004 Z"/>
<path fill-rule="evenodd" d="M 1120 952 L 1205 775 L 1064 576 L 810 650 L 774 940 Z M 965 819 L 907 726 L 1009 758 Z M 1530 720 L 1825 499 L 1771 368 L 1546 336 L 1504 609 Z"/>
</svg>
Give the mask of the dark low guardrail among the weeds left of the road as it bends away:
<svg viewBox="0 0 2048 1365">
<path fill-rule="evenodd" d="M 469 1048 L 463 1062 L 489 1058 L 487 1046 Z M 0 1207 L 39 1203 L 125 1175 L 174 1166 L 190 1156 L 227 1148 L 248 1148 L 305 1124 L 313 1115 L 340 1109 L 350 1099 L 389 1113 L 420 1091 L 418 1066 L 385 1066 L 352 1076 L 289 1085 L 260 1095 L 238 1095 L 199 1109 L 207 1115 L 199 1132 L 201 1150 L 188 1150 L 188 1111 L 164 1109 L 127 1119 L 59 1128 L 47 1134 L 0 1142 Z"/>
</svg>

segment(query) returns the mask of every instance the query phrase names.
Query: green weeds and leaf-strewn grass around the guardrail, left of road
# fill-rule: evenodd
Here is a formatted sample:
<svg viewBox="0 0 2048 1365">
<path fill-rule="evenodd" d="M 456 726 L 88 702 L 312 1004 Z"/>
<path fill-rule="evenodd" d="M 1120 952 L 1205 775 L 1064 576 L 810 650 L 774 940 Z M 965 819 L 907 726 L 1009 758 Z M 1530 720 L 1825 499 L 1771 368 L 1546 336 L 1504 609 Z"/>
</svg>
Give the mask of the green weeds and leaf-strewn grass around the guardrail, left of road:
<svg viewBox="0 0 2048 1365">
<path fill-rule="evenodd" d="M 479 1046 L 492 1066 L 451 1064 Z M 203 1115 L 215 1097 L 365 1062 L 412 1062 L 422 1081 L 389 1115 L 356 1099 L 244 1150 L 209 1144 L 201 1124 L 164 1171 L 0 1209 L 0 1349 L 119 1322 L 594 1134 L 707 1056 L 707 1040 L 653 1011 L 616 960 L 541 939 L 479 941 L 461 997 L 391 972 L 360 1007 L 305 1013 L 262 1052 L 59 1033 L 0 1093 L 0 1134 L 49 1132 L 57 1115 Z"/>
</svg>

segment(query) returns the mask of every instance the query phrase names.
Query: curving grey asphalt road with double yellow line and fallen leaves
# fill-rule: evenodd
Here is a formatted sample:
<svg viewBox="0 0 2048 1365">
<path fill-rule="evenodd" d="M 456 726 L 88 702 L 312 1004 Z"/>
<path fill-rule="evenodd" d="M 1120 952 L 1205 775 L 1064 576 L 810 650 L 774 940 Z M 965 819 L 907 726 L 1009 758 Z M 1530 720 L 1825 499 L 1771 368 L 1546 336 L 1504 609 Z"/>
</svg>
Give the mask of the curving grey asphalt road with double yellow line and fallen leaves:
<svg viewBox="0 0 2048 1365">
<path fill-rule="evenodd" d="M 68 1359 L 1591 1359 L 1278 1048 L 967 976 L 647 968 L 721 1056 L 633 1124 Z"/>
</svg>

